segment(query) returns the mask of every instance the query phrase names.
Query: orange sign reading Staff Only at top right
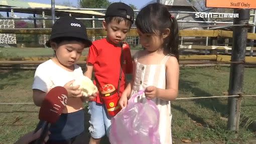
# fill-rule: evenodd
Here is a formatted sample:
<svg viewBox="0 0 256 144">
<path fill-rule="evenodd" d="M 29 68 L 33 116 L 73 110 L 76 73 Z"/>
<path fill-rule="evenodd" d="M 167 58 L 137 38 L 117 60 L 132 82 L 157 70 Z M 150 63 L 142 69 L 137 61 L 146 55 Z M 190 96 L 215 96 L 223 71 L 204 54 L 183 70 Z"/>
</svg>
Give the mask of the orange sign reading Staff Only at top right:
<svg viewBox="0 0 256 144">
<path fill-rule="evenodd" d="M 210 8 L 256 9 L 256 0 L 206 0 Z"/>
</svg>

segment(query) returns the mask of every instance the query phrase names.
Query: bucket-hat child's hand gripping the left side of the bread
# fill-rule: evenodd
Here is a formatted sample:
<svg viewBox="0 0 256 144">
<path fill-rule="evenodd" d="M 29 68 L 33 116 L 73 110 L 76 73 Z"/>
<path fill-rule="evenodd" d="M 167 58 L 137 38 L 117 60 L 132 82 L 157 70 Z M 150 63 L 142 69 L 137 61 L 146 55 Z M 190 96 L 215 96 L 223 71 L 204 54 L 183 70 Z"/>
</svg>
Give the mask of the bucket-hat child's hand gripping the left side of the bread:
<svg viewBox="0 0 256 144">
<path fill-rule="evenodd" d="M 66 88 L 66 90 L 68 91 L 68 97 L 81 97 L 82 96 L 81 90 L 78 89 L 80 85 L 76 85 L 76 86 L 71 85 L 74 81 L 75 80 L 71 80 L 68 83 L 66 83 L 64 85 L 64 88 Z"/>
</svg>

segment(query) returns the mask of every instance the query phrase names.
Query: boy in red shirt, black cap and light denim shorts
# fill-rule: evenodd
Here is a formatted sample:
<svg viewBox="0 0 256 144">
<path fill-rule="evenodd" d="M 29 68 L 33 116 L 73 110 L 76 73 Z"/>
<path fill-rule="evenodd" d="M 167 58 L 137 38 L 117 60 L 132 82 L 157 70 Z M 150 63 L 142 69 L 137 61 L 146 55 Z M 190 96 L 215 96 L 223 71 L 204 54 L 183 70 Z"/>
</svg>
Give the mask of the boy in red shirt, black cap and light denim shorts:
<svg viewBox="0 0 256 144">
<path fill-rule="evenodd" d="M 92 43 L 87 57 L 87 71 L 84 73 L 91 78 L 94 72 L 94 84 L 99 93 L 105 84 L 112 84 L 120 96 L 125 87 L 125 74 L 133 72 L 130 47 L 122 43 L 133 23 L 134 11 L 130 6 L 113 3 L 107 8 L 105 21 L 102 22 L 107 37 Z M 105 134 L 109 135 L 111 125 L 111 117 L 107 114 L 100 94 L 89 101 L 89 113 L 91 114 L 89 143 L 99 143 L 101 137 Z"/>
</svg>

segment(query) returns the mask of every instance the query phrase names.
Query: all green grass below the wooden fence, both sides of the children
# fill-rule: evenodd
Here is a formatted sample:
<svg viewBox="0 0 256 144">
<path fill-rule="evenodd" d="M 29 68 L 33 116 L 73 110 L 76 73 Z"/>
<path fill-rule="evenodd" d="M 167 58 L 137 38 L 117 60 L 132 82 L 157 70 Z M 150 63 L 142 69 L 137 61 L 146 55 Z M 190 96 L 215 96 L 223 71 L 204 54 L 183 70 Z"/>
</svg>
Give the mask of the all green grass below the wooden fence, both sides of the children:
<svg viewBox="0 0 256 144">
<path fill-rule="evenodd" d="M 1 71 L 0 102 L 32 102 L 32 82 L 34 71 Z M 255 95 L 255 68 L 245 68 L 243 94 Z M 220 96 L 227 92 L 229 68 L 181 68 L 179 97 Z M 181 139 L 192 141 L 226 141 L 226 143 L 245 143 L 255 138 L 251 123 L 255 120 L 255 97 L 243 97 L 241 120 L 237 137 L 226 130 L 227 99 L 211 98 L 193 101 L 172 102 L 172 134 Z M 0 141 L 14 142 L 20 135 L 31 131 L 38 122 L 39 108 L 34 105 L 0 105 Z M 88 127 L 86 115 L 86 127 Z M 85 129 L 87 130 L 87 128 Z M 3 134 L 2 134 L 3 133 Z M 86 137 L 86 136 L 85 136 Z M 0 143 L 1 143 L 0 142 Z M 106 143 L 106 140 L 103 140 Z"/>
</svg>

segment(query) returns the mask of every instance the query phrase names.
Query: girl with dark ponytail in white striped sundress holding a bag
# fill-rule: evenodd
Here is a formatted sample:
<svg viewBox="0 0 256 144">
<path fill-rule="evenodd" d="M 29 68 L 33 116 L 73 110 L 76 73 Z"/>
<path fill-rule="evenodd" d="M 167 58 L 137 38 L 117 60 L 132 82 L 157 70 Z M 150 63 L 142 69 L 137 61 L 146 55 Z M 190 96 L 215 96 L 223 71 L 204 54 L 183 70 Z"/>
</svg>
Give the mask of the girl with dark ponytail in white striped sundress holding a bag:
<svg viewBox="0 0 256 144">
<path fill-rule="evenodd" d="M 137 32 L 144 50 L 134 56 L 134 75 L 123 91 L 119 105 L 139 90 L 145 93 L 137 101 L 153 100 L 160 112 L 159 134 L 162 144 L 172 143 L 171 101 L 178 95 L 178 25 L 161 4 L 150 4 L 136 18 Z M 149 111 L 150 112 L 150 111 Z"/>
</svg>

